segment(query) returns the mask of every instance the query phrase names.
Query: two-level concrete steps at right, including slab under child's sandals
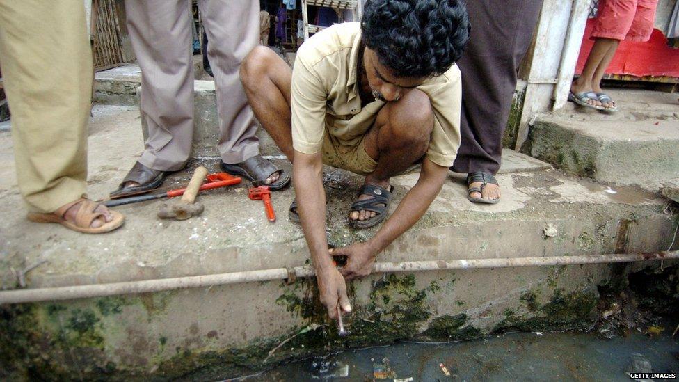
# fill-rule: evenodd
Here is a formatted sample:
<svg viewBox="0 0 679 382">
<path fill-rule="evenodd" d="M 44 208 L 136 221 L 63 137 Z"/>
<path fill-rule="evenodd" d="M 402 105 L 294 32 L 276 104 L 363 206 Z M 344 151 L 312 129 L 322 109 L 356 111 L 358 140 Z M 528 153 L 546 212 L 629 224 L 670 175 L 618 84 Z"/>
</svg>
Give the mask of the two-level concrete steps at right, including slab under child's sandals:
<svg viewBox="0 0 679 382">
<path fill-rule="evenodd" d="M 574 175 L 655 192 L 679 173 L 677 96 L 610 93 L 620 113 L 584 109 L 539 116 L 526 151 Z"/>
</svg>

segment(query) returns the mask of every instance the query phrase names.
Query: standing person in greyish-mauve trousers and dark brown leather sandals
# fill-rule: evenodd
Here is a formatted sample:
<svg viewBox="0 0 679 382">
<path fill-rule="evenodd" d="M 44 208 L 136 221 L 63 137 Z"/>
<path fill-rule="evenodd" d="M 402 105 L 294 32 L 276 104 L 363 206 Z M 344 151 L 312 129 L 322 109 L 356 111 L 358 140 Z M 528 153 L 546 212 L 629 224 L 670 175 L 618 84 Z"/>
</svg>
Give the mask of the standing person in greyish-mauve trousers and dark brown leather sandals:
<svg viewBox="0 0 679 382">
<path fill-rule="evenodd" d="M 143 154 L 111 198 L 156 189 L 189 160 L 194 76 L 189 5 L 189 0 L 125 0 L 149 136 Z M 221 167 L 280 189 L 290 176 L 259 156 L 257 125 L 238 74 L 241 61 L 259 41 L 259 1 L 200 0 L 198 6 L 217 93 Z"/>
</svg>

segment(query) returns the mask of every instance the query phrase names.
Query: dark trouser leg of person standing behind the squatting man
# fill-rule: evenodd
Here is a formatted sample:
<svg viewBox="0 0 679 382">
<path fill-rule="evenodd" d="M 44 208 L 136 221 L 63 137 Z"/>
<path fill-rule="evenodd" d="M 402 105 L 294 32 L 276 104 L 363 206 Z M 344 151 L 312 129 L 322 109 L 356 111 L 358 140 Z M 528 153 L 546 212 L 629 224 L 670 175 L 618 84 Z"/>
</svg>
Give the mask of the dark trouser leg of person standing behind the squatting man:
<svg viewBox="0 0 679 382">
<path fill-rule="evenodd" d="M 462 142 L 452 170 L 495 174 L 502 159 L 502 135 L 542 0 L 471 0 L 472 33 L 458 61 L 462 72 Z"/>
</svg>

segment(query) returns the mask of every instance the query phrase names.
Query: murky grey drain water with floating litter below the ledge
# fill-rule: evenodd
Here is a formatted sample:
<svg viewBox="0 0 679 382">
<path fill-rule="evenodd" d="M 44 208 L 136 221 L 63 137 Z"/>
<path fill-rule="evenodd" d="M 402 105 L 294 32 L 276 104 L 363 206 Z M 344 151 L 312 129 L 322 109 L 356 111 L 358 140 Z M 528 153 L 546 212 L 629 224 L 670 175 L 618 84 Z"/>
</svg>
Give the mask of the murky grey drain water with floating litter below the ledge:
<svg viewBox="0 0 679 382">
<path fill-rule="evenodd" d="M 679 373 L 679 333 L 507 333 L 482 340 L 342 351 L 240 381 L 631 381 L 632 365 Z M 447 375 L 449 374 L 449 375 Z M 376 379 L 383 377 L 383 379 Z"/>
</svg>

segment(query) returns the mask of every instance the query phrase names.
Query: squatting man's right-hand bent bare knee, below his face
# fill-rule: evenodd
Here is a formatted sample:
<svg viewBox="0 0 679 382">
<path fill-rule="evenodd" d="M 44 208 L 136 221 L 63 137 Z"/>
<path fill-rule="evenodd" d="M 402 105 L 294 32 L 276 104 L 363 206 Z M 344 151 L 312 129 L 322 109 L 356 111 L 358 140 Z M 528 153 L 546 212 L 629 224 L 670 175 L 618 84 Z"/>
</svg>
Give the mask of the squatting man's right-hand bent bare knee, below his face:
<svg viewBox="0 0 679 382">
<path fill-rule="evenodd" d="M 392 142 L 426 149 L 434 121 L 429 96 L 422 90 L 410 90 L 390 105 L 388 121 Z"/>
</svg>

